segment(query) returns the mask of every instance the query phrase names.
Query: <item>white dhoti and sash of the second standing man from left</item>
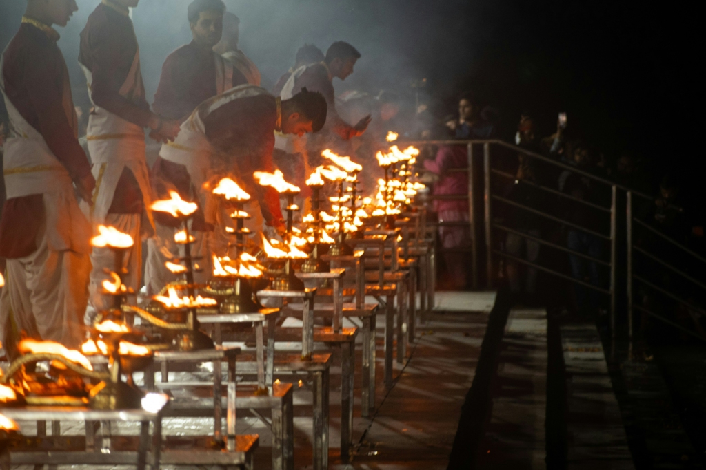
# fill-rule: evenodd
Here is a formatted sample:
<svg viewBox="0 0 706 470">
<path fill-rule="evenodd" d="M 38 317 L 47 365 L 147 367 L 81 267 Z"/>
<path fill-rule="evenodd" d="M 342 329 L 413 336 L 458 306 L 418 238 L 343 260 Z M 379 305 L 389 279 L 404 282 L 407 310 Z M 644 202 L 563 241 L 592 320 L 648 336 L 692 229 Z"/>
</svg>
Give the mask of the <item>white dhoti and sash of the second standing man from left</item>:
<svg viewBox="0 0 706 470">
<path fill-rule="evenodd" d="M 92 87 L 92 73 L 81 64 L 86 75 L 88 94 Z M 142 101 L 144 97 L 142 75 L 140 73 L 140 51 L 135 54 L 133 64 L 125 82 L 119 89 L 121 97 Z M 96 185 L 92 205 L 82 204 L 82 209 L 92 223 L 112 225 L 117 230 L 130 235 L 134 244 L 126 249 L 121 260 L 122 268 L 128 274 L 123 277 L 126 287 L 138 292 L 142 278 L 142 239 L 154 233 L 150 178 L 145 161 L 145 132 L 139 125 L 133 124 L 115 114 L 94 106 L 88 119 L 88 149 L 93 163 L 92 173 Z M 135 177 L 143 199 L 142 214 L 109 214 L 116 187 L 125 169 Z M 95 311 L 111 307 L 112 297 L 104 295 L 102 282 L 110 279 L 110 272 L 116 268 L 113 252 L 107 248 L 93 248 L 91 252 L 92 271 L 90 274 L 90 307 L 86 310 L 85 321 L 92 322 Z"/>
</svg>

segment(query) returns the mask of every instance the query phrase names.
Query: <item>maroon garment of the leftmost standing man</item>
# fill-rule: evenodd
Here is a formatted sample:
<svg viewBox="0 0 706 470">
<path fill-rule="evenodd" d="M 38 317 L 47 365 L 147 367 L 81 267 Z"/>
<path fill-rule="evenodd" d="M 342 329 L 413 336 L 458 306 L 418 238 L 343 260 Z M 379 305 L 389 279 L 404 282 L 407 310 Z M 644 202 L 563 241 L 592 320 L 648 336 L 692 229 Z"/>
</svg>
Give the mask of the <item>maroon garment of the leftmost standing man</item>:
<svg viewBox="0 0 706 470">
<path fill-rule="evenodd" d="M 56 159 L 76 181 L 90 174 L 90 163 L 64 110 L 66 62 L 56 39 L 22 23 L 3 54 L 3 78 L 8 99 L 40 132 Z M 0 220 L 0 256 L 20 258 L 37 249 L 35 239 L 44 220 L 42 194 L 5 202 Z"/>
</svg>

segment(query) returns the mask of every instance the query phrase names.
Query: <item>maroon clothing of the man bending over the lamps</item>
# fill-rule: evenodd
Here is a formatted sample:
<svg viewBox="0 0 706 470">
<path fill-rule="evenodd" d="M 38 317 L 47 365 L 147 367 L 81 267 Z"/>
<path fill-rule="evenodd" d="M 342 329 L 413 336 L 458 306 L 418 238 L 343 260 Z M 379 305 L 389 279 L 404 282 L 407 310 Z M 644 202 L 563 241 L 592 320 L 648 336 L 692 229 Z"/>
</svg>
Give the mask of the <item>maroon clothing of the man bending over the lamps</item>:
<svg viewBox="0 0 706 470">
<path fill-rule="evenodd" d="M 273 225 L 282 218 L 280 196 L 271 187 L 258 185 L 253 179 L 256 171 L 275 171 L 272 152 L 275 148 L 277 102 L 269 94 L 234 99 L 221 106 L 204 119 L 205 134 L 209 142 L 229 154 L 237 162 L 239 173 L 234 174 L 244 184 L 244 190 L 260 201 L 265 222 Z M 217 165 L 219 162 L 215 162 Z M 228 162 L 218 173 L 232 173 Z M 184 165 L 166 161 L 161 157 L 152 167 L 152 187 L 160 199 L 168 198 L 167 190 L 179 192 L 182 199 L 194 200 L 195 188 Z M 155 212 L 155 220 L 164 225 L 174 225 L 174 219 Z M 195 219 L 195 223 L 203 220 Z"/>
</svg>

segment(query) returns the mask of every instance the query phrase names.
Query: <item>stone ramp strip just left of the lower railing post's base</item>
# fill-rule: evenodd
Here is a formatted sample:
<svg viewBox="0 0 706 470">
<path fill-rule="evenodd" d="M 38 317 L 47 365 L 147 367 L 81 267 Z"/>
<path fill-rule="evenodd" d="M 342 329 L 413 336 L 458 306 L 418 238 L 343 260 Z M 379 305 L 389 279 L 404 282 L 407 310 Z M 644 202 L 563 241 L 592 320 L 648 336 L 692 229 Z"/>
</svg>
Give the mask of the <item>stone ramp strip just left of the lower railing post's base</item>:
<svg viewBox="0 0 706 470">
<path fill-rule="evenodd" d="M 625 427 L 593 323 L 561 326 L 568 470 L 634 470 Z"/>
</svg>

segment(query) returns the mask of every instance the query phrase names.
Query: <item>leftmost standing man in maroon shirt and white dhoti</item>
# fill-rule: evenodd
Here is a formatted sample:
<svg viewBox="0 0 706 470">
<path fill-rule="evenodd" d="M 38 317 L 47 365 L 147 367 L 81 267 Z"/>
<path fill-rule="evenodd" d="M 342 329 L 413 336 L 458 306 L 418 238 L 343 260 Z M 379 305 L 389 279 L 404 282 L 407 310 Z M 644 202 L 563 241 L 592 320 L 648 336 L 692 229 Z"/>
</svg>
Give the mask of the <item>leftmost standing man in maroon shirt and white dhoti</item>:
<svg viewBox="0 0 706 470">
<path fill-rule="evenodd" d="M 90 199 L 95 186 L 77 139 L 68 70 L 56 46 L 59 33 L 52 28 L 65 26 L 73 11 L 73 2 L 28 0 L 0 61 L 0 90 L 11 123 L 0 220 L 0 256 L 7 259 L 3 297 L 9 302 L 1 303 L 0 330 L 11 322 L 15 335 L 67 347 L 83 341 L 90 271 L 90 225 L 76 194 Z"/>
</svg>

